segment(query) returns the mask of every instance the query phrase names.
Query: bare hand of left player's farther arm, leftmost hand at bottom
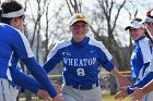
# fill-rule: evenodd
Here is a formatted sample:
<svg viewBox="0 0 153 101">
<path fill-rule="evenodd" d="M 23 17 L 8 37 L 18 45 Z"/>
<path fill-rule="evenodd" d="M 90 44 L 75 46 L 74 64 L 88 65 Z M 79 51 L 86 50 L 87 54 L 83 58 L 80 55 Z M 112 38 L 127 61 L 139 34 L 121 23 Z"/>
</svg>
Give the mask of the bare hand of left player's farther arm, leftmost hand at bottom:
<svg viewBox="0 0 153 101">
<path fill-rule="evenodd" d="M 52 101 L 50 96 L 45 90 L 38 90 L 37 94 L 44 100 L 44 101 Z"/>
</svg>

